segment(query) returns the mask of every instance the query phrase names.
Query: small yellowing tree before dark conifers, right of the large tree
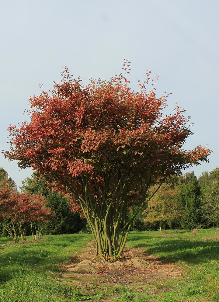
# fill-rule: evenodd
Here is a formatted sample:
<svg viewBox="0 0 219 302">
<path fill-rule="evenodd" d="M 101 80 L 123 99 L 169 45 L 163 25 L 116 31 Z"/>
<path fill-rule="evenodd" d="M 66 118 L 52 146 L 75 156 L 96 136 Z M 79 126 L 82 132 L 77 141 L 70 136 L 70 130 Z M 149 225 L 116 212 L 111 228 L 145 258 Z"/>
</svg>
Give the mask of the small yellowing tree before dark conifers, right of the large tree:
<svg viewBox="0 0 219 302">
<path fill-rule="evenodd" d="M 151 194 L 158 189 L 158 185 L 151 188 Z M 182 217 L 183 210 L 180 209 L 177 194 L 173 185 L 163 183 L 159 191 L 149 200 L 147 209 L 143 212 L 146 216 L 145 221 L 160 221 L 163 225 L 165 233 L 165 225 L 171 223 L 175 219 Z"/>
</svg>

